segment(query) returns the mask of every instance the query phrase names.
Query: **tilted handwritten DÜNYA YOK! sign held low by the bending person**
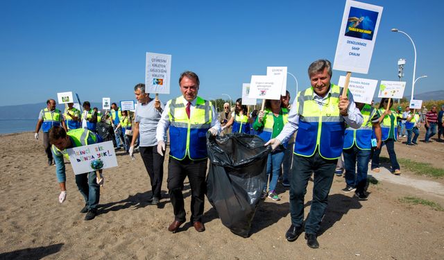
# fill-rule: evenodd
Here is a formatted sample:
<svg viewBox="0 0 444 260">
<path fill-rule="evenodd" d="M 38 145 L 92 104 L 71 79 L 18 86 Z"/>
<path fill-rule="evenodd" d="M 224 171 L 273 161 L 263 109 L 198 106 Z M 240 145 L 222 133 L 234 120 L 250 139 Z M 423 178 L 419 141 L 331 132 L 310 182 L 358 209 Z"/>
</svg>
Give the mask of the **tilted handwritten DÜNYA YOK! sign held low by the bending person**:
<svg viewBox="0 0 444 260">
<path fill-rule="evenodd" d="M 74 174 L 89 173 L 103 168 L 117 167 L 112 141 L 67 149 Z"/>
</svg>

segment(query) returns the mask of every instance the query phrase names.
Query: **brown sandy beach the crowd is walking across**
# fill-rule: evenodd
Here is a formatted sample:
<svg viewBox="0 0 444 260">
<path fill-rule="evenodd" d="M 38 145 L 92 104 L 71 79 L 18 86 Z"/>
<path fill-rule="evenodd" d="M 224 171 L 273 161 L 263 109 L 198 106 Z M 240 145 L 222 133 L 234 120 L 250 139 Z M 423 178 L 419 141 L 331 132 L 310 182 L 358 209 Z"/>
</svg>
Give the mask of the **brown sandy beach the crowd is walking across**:
<svg viewBox="0 0 444 260">
<path fill-rule="evenodd" d="M 424 205 L 401 203 L 403 196 L 418 196 L 444 205 L 444 196 L 406 185 L 379 181 L 368 187 L 369 200 L 342 193 L 343 177 L 335 177 L 317 250 L 304 236 L 293 243 L 284 234 L 291 221 L 289 191 L 278 184 L 281 200 L 265 200 L 255 214 L 250 237 L 244 239 L 224 227 L 210 203 L 205 202 L 206 231 L 198 233 L 186 223 L 171 234 L 167 227 L 173 209 L 167 193 L 164 163 L 162 200 L 150 205 L 148 174 L 142 159 L 117 152 L 118 168 L 104 171 L 99 215 L 83 220 L 84 205 L 74 173 L 67 164 L 67 201 L 58 202 L 56 166 L 47 166 L 42 140 L 33 133 L 0 135 L 0 259 L 443 259 L 444 212 Z M 411 150 L 396 144 L 398 157 L 415 159 Z M 167 149 L 168 153 L 168 149 Z M 433 154 L 433 155 L 430 155 Z M 444 144 L 420 144 L 415 155 L 444 167 Z M 387 157 L 386 150 L 382 156 Z M 422 160 L 420 161 L 422 162 Z M 374 174 L 378 179 L 376 173 Z M 402 169 L 402 177 L 432 179 Z M 312 182 L 305 197 L 309 212 Z M 185 181 L 187 220 L 190 190 Z"/>
</svg>

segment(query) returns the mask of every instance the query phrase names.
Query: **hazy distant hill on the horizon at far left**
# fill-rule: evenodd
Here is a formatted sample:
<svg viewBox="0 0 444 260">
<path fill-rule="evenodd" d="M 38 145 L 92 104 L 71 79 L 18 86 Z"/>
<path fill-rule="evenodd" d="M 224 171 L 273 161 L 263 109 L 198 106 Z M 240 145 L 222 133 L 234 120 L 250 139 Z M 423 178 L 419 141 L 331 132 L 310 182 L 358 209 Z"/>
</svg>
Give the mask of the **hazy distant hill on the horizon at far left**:
<svg viewBox="0 0 444 260">
<path fill-rule="evenodd" d="M 39 117 L 40 110 L 46 107 L 46 103 L 5 105 L 0 107 L 0 120 L 10 119 L 35 119 Z M 91 107 L 102 107 L 102 103 L 91 103 Z M 60 111 L 65 111 L 65 105 L 57 105 Z"/>
</svg>

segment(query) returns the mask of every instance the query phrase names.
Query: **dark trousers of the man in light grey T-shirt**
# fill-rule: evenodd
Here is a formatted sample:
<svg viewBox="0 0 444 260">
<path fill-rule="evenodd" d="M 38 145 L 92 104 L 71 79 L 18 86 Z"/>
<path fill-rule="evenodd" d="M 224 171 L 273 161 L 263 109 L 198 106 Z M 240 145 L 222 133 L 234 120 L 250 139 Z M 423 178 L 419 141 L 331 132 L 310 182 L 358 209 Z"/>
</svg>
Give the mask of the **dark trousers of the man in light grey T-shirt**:
<svg viewBox="0 0 444 260">
<path fill-rule="evenodd" d="M 160 199 L 162 180 L 164 177 L 164 157 L 157 153 L 157 146 L 139 147 L 140 156 L 150 176 L 153 197 Z"/>
</svg>

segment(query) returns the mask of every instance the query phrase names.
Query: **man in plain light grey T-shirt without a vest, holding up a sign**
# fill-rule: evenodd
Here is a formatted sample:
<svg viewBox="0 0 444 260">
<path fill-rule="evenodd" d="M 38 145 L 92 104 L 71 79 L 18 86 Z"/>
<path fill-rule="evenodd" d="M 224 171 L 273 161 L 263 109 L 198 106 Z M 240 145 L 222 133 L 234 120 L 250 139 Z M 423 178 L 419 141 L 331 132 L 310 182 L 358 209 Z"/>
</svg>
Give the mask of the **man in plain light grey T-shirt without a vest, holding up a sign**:
<svg viewBox="0 0 444 260">
<path fill-rule="evenodd" d="M 133 158 L 134 144 L 140 136 L 139 151 L 144 161 L 146 171 L 150 177 L 152 197 L 148 200 L 157 205 L 161 199 L 162 180 L 164 177 L 164 155 L 157 153 L 157 140 L 155 131 L 164 105 L 158 98 L 150 98 L 145 92 L 145 84 L 139 83 L 134 87 L 137 101 L 135 107 L 135 123 L 133 127 L 133 139 L 130 145 L 130 157 Z M 164 141 L 166 138 L 164 137 Z"/>
</svg>

